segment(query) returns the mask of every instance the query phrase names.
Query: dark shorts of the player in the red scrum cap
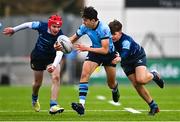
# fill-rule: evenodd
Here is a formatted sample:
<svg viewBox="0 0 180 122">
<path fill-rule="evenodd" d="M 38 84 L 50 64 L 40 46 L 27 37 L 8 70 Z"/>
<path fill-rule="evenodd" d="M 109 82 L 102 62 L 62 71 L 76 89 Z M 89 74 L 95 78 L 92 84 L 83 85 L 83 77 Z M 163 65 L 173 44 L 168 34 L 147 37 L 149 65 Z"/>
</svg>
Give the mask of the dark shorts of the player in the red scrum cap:
<svg viewBox="0 0 180 122">
<path fill-rule="evenodd" d="M 53 63 L 56 55 L 43 55 L 43 57 L 38 56 L 35 52 L 31 53 L 31 69 L 36 71 L 46 70 L 47 65 Z"/>
</svg>

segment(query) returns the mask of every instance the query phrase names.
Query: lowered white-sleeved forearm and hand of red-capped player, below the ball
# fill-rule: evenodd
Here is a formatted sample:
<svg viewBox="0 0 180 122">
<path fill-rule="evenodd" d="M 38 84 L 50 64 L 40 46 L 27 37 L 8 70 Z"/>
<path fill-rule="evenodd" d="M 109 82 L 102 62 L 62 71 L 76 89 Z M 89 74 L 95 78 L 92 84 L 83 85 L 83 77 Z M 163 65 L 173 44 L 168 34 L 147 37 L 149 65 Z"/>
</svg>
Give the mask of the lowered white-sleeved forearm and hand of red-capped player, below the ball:
<svg viewBox="0 0 180 122">
<path fill-rule="evenodd" d="M 63 52 L 56 51 L 56 57 L 54 59 L 54 62 L 47 67 L 47 71 L 49 73 L 52 73 L 56 69 L 57 65 L 60 63 L 60 61 L 62 59 L 62 56 L 63 56 Z"/>
</svg>

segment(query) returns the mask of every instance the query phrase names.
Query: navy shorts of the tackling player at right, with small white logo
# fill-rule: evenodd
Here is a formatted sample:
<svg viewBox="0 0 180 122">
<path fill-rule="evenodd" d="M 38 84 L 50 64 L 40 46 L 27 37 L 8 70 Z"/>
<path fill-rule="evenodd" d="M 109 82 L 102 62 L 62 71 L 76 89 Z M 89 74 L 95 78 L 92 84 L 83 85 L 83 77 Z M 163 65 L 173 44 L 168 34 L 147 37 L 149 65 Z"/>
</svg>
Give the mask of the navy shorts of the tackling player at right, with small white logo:
<svg viewBox="0 0 180 122">
<path fill-rule="evenodd" d="M 143 55 L 136 60 L 133 60 L 131 63 L 121 64 L 126 76 L 135 73 L 135 68 L 138 66 L 146 66 L 146 55 Z"/>
</svg>

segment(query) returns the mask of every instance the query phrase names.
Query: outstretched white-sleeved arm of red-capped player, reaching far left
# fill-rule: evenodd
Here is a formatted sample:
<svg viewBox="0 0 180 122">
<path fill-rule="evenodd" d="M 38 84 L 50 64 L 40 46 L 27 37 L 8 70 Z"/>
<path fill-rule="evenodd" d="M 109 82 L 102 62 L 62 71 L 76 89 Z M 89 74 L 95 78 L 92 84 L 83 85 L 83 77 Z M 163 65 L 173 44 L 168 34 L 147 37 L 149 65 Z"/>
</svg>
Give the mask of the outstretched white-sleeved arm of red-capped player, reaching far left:
<svg viewBox="0 0 180 122">
<path fill-rule="evenodd" d="M 17 31 L 20 31 L 20 30 L 23 30 L 26 28 L 32 28 L 32 24 L 33 24 L 33 22 L 26 22 L 26 23 L 20 24 L 15 27 L 7 27 L 3 30 L 3 34 L 5 34 L 7 36 L 11 36 Z"/>
</svg>

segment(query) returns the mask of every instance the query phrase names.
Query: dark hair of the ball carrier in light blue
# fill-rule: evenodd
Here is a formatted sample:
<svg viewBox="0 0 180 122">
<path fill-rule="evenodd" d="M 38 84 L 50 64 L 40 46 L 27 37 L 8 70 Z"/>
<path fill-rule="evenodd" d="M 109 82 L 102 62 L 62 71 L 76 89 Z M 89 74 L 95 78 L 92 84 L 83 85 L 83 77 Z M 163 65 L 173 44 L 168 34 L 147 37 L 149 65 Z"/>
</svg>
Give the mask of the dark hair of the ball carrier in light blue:
<svg viewBox="0 0 180 122">
<path fill-rule="evenodd" d="M 96 21 L 98 20 L 97 18 L 98 12 L 92 7 L 85 7 L 84 10 L 82 11 L 82 18 L 86 19 L 95 19 Z"/>
</svg>

